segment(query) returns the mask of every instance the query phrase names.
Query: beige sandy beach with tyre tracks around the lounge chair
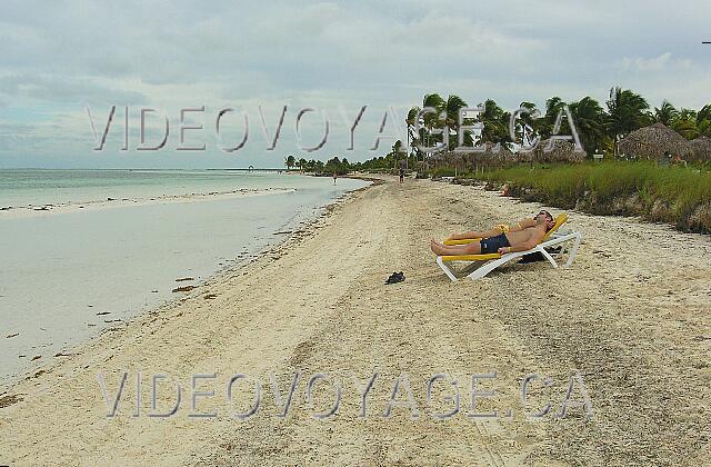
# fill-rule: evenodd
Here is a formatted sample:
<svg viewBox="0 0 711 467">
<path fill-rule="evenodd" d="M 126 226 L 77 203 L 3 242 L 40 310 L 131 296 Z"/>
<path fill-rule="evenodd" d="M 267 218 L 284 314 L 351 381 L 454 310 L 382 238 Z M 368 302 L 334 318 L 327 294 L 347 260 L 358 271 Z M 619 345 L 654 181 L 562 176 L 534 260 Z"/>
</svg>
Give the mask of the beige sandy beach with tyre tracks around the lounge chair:
<svg viewBox="0 0 711 467">
<path fill-rule="evenodd" d="M 248 265 L 0 389 L 0 465 L 708 465 L 711 239 L 572 211 L 570 227 L 584 239 L 570 268 L 511 265 L 451 282 L 434 264 L 430 238 L 540 207 L 478 187 L 382 177 Z M 405 280 L 384 285 L 393 271 Z M 284 397 L 270 375 L 284 396 L 297 372 L 291 410 L 280 417 Z M 107 417 L 124 374 L 117 414 Z M 330 379 L 314 380 L 320 374 Z M 150 416 L 176 401 L 166 384 L 151 408 L 156 375 L 184 390 L 170 417 Z M 237 375 L 246 378 L 228 404 Z M 530 375 L 538 377 L 523 404 Z M 359 387 L 370 378 L 362 416 Z M 460 410 L 438 419 L 453 407 L 452 378 Z M 253 380 L 259 410 L 233 417 L 249 411 Z M 333 380 L 342 381 L 340 407 L 318 419 L 333 405 Z M 570 381 L 571 400 L 589 407 L 557 418 Z M 393 388 L 402 404 L 388 418 Z M 199 391 L 214 395 L 193 410 Z M 535 417 L 547 403 L 551 410 Z"/>
</svg>

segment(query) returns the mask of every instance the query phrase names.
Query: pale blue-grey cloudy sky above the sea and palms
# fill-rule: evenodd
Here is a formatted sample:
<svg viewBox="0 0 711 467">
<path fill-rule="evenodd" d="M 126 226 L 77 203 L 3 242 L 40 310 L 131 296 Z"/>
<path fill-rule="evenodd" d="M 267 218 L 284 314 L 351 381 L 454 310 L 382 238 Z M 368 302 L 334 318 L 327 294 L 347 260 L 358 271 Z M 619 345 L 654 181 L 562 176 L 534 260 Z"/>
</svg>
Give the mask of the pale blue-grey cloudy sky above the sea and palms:
<svg viewBox="0 0 711 467">
<path fill-rule="evenodd" d="M 511 111 L 521 101 L 544 107 L 552 96 L 603 103 L 621 86 L 652 108 L 668 99 L 699 109 L 711 102 L 711 44 L 702 44 L 711 41 L 710 19 L 708 0 L 4 0 L 0 168 L 281 167 L 288 155 L 365 160 L 404 137 L 404 112 L 430 92 L 471 106 L 491 98 Z M 87 109 L 100 139 L 112 106 L 106 145 L 94 150 Z M 181 109 L 190 108 L 204 110 L 184 112 L 183 125 L 202 129 L 184 130 L 181 145 Z M 227 108 L 233 111 L 218 136 Z M 141 109 L 156 110 L 146 112 L 144 147 L 161 141 L 168 119 L 160 150 L 138 150 Z M 244 133 L 240 149 L 222 149 Z M 322 147 L 308 150 L 324 135 Z"/>
</svg>

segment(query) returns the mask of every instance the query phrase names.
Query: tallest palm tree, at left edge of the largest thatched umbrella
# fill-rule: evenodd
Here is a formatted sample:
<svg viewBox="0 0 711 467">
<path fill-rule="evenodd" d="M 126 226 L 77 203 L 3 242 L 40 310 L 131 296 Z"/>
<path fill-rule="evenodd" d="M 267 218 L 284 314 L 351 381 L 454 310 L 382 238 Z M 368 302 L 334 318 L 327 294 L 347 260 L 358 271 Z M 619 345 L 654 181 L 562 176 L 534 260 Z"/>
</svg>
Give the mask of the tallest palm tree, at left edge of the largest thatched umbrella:
<svg viewBox="0 0 711 467">
<path fill-rule="evenodd" d="M 622 90 L 620 87 L 610 89 L 610 100 L 607 101 L 607 106 L 605 127 L 608 135 L 614 141 L 617 156 L 620 140 L 630 131 L 649 125 L 652 118 L 648 112 L 647 100 L 630 89 Z"/>
</svg>

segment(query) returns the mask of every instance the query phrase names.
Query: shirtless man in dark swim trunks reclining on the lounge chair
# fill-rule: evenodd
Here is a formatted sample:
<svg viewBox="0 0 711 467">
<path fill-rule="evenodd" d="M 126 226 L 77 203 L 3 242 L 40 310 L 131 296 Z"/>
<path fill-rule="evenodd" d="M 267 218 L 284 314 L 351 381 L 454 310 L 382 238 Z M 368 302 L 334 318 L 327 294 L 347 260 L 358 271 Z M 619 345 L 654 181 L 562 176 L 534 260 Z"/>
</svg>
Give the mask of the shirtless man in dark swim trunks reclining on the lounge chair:
<svg viewBox="0 0 711 467">
<path fill-rule="evenodd" d="M 443 245 L 434 239 L 430 241 L 432 252 L 439 256 L 450 255 L 505 255 L 515 251 L 527 251 L 541 242 L 545 234 L 553 228 L 555 220 L 548 211 L 540 211 L 532 219 L 523 219 L 514 225 L 499 223 L 491 230 L 453 234 L 447 240 L 465 240 L 480 238 L 467 245 Z M 447 241 L 445 240 L 445 241 Z"/>
</svg>

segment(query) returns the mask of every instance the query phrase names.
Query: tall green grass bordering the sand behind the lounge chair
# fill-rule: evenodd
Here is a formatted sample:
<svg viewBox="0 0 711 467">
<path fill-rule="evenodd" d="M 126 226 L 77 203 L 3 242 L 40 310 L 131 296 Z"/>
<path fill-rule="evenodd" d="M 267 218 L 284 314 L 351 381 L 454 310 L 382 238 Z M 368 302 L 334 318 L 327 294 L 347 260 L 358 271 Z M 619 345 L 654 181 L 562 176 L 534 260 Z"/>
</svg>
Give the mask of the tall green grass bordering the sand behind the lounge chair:
<svg viewBox="0 0 711 467">
<path fill-rule="evenodd" d="M 474 178 L 470 176 L 470 178 Z M 708 167 L 652 162 L 587 162 L 512 167 L 479 175 L 512 196 L 599 215 L 641 216 L 685 231 L 711 232 Z"/>
</svg>

